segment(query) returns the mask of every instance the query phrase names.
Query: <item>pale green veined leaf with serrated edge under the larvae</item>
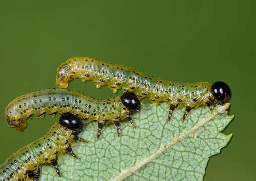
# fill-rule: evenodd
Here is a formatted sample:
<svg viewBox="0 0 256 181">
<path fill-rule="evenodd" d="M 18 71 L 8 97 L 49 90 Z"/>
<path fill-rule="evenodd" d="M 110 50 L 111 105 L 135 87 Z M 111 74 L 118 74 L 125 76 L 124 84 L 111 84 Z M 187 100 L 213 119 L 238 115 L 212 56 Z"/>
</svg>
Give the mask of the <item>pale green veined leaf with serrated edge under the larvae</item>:
<svg viewBox="0 0 256 181">
<path fill-rule="evenodd" d="M 215 115 L 201 106 L 192 110 L 185 122 L 185 108 L 174 111 L 167 121 L 169 106 L 142 104 L 129 122 L 121 124 L 117 137 L 113 124 L 104 127 L 97 140 L 97 126 L 89 122 L 80 136 L 88 144 L 74 143 L 80 159 L 68 154 L 59 158 L 62 177 L 52 166 L 42 167 L 41 180 L 202 180 L 209 157 L 220 153 L 232 137 L 221 131 L 233 119 L 226 111 L 229 103 L 217 105 Z"/>
</svg>

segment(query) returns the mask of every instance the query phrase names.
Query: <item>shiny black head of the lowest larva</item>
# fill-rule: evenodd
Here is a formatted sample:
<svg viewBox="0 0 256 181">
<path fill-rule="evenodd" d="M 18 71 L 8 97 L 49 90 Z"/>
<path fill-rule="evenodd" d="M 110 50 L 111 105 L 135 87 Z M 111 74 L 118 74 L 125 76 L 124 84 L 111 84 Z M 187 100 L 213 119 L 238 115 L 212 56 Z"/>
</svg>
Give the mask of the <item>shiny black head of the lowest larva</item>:
<svg viewBox="0 0 256 181">
<path fill-rule="evenodd" d="M 71 113 L 65 113 L 60 117 L 59 123 L 73 131 L 82 131 L 83 130 L 83 123 L 82 121 L 74 116 Z"/>
</svg>

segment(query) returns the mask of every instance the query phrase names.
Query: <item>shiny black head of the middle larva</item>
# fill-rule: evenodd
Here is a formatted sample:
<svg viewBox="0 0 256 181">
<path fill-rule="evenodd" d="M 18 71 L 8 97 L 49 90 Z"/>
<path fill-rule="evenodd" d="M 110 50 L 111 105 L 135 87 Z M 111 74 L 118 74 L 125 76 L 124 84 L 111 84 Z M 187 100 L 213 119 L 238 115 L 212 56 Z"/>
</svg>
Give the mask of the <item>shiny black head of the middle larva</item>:
<svg viewBox="0 0 256 181">
<path fill-rule="evenodd" d="M 130 111 L 137 112 L 140 109 L 140 101 L 133 92 L 126 92 L 121 96 L 122 104 Z"/>
</svg>

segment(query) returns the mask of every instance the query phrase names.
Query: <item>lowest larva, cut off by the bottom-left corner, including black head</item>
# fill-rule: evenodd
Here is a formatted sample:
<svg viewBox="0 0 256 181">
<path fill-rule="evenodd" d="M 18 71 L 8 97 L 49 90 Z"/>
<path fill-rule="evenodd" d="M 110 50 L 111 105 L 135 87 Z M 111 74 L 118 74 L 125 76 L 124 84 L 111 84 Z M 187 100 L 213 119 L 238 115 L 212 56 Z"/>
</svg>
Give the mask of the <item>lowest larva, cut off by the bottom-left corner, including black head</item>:
<svg viewBox="0 0 256 181">
<path fill-rule="evenodd" d="M 39 167 L 44 163 L 52 164 L 60 176 L 57 159 L 65 152 L 77 158 L 71 145 L 76 140 L 86 142 L 78 137 L 81 131 L 83 123 L 79 118 L 69 113 L 63 114 L 46 135 L 19 149 L 0 165 L 0 181 L 39 181 Z"/>
</svg>

